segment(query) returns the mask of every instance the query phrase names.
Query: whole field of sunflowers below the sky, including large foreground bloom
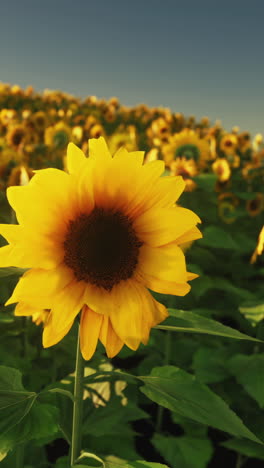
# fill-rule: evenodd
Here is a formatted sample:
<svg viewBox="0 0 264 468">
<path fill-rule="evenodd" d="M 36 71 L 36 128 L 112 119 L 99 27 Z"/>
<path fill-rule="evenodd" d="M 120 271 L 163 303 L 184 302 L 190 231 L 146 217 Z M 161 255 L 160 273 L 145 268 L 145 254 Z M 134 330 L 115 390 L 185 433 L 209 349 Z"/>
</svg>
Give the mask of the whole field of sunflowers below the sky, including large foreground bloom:
<svg viewBox="0 0 264 468">
<path fill-rule="evenodd" d="M 263 466 L 263 225 L 261 134 L 0 83 L 1 466 Z"/>
</svg>

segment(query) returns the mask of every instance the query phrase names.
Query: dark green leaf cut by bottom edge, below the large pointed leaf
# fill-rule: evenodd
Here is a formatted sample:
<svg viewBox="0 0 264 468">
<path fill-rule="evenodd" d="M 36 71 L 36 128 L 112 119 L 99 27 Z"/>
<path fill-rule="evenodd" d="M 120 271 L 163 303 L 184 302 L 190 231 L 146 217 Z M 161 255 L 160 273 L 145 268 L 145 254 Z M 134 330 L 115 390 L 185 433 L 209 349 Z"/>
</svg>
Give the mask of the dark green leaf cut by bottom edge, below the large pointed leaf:
<svg viewBox="0 0 264 468">
<path fill-rule="evenodd" d="M 205 437 L 156 434 L 151 442 L 172 468 L 206 468 L 213 455 L 212 444 Z"/>
</svg>

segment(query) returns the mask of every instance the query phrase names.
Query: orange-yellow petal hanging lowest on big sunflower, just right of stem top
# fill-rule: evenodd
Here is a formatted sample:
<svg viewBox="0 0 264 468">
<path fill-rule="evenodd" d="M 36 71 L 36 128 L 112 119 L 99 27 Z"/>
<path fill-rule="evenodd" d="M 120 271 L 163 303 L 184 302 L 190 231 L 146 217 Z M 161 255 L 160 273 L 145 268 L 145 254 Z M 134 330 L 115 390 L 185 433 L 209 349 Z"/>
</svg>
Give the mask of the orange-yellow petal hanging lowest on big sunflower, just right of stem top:
<svg viewBox="0 0 264 468">
<path fill-rule="evenodd" d="M 94 355 L 102 322 L 102 315 L 96 314 L 87 306 L 83 308 L 80 324 L 80 345 L 84 359 L 89 360 Z"/>
</svg>

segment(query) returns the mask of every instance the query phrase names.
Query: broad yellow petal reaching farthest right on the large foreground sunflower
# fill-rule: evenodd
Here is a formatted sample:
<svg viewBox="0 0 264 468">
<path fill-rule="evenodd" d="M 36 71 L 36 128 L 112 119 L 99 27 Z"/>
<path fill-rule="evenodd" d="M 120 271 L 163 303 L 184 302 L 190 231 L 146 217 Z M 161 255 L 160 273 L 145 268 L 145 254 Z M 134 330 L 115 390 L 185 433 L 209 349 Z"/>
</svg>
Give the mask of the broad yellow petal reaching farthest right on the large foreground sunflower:
<svg viewBox="0 0 264 468">
<path fill-rule="evenodd" d="M 177 206 L 152 208 L 140 215 L 133 226 L 143 242 L 158 247 L 176 240 L 198 222 L 200 218 L 193 211 Z"/>
</svg>

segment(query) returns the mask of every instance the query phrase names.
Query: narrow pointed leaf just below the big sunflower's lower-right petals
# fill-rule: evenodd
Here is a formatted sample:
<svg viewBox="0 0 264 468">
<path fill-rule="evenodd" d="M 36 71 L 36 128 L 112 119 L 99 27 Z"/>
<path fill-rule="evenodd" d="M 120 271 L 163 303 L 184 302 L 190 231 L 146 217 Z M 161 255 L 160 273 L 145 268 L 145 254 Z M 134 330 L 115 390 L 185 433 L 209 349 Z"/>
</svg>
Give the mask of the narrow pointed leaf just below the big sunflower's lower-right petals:
<svg viewBox="0 0 264 468">
<path fill-rule="evenodd" d="M 207 335 L 223 336 L 225 338 L 233 338 L 236 340 L 260 341 L 252 336 L 234 330 L 233 328 L 222 325 L 215 320 L 202 317 L 186 310 L 168 309 L 170 317 L 165 323 L 171 325 L 157 325 L 155 328 L 160 330 L 169 330 L 185 333 L 204 333 Z"/>
</svg>

